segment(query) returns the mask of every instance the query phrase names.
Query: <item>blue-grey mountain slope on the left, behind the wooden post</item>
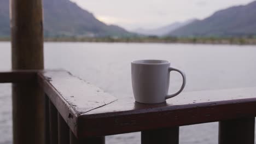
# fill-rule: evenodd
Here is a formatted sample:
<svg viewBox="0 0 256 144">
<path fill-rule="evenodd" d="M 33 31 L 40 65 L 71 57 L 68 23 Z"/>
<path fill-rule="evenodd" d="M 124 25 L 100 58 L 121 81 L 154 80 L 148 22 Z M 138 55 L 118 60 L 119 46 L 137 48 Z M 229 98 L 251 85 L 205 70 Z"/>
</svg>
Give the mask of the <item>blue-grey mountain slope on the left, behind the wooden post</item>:
<svg viewBox="0 0 256 144">
<path fill-rule="evenodd" d="M 127 36 L 125 29 L 106 25 L 69 0 L 43 0 L 44 34 L 56 36 Z M 9 2 L 0 0 L 0 35 L 9 35 Z"/>
</svg>

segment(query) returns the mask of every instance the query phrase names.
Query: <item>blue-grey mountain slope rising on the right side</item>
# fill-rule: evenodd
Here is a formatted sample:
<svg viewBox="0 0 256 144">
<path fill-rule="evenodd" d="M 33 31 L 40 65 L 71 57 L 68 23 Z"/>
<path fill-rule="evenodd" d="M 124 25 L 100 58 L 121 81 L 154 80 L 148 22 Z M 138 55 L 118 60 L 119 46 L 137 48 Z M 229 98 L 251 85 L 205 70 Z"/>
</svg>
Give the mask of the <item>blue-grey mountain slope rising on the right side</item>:
<svg viewBox="0 0 256 144">
<path fill-rule="evenodd" d="M 256 1 L 219 10 L 212 16 L 178 28 L 168 35 L 177 37 L 229 37 L 256 35 Z"/>
</svg>

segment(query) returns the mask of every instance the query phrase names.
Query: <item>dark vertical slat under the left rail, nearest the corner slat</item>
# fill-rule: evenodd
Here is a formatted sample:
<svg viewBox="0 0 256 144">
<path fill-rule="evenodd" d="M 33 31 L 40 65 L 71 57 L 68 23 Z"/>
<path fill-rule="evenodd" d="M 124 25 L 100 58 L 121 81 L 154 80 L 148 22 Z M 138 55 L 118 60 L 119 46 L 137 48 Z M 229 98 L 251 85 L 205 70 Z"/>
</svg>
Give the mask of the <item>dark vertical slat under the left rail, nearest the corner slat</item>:
<svg viewBox="0 0 256 144">
<path fill-rule="evenodd" d="M 60 113 L 58 113 L 58 142 L 59 144 L 69 144 L 69 128 Z"/>
</svg>

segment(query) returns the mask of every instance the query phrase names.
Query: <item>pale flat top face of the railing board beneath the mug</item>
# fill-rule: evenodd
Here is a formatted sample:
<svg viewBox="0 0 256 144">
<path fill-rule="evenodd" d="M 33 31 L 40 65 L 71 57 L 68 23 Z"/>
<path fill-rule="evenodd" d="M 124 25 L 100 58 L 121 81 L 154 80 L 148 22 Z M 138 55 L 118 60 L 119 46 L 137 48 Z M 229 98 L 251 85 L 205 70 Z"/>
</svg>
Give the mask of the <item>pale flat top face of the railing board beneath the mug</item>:
<svg viewBox="0 0 256 144">
<path fill-rule="evenodd" d="M 201 106 L 201 105 L 220 105 L 230 103 L 245 103 L 256 100 L 256 87 L 247 88 L 235 88 L 235 89 L 216 89 L 211 91 L 193 91 L 183 92 L 177 97 L 167 100 L 164 104 L 140 104 L 135 103 L 132 95 L 125 98 L 118 98 L 118 101 L 111 105 L 101 107 L 94 111 L 88 112 L 87 114 L 106 113 L 106 112 L 119 112 L 119 111 L 130 111 L 139 109 L 148 109 L 154 111 L 155 107 L 173 107 L 173 106 Z M 255 101 L 256 102 L 256 101 Z"/>
</svg>

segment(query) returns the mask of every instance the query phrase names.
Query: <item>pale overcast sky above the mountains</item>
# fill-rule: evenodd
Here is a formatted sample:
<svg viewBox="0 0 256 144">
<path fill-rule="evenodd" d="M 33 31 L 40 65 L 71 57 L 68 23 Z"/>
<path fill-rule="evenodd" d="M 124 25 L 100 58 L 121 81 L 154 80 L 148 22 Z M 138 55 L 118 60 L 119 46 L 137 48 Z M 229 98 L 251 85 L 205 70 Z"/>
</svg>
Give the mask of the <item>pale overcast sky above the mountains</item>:
<svg viewBox="0 0 256 144">
<path fill-rule="evenodd" d="M 253 0 L 71 0 L 98 20 L 129 30 L 156 28 L 191 18 L 203 19 L 219 9 Z"/>
</svg>

